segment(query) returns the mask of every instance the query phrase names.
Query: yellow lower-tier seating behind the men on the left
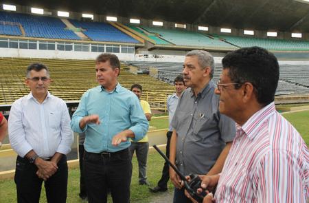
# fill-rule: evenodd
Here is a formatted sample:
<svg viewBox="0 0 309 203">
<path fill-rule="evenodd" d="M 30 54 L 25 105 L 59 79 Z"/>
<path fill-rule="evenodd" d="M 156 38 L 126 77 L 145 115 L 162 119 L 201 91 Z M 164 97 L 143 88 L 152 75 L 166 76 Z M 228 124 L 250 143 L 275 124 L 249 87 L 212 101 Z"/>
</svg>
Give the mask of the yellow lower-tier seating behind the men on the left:
<svg viewBox="0 0 309 203">
<path fill-rule="evenodd" d="M 98 85 L 93 60 L 0 58 L 0 105 L 9 105 L 29 93 L 24 83 L 25 68 L 34 62 L 41 62 L 49 67 L 52 76 L 49 91 L 64 100 L 80 100 L 87 89 Z M 148 100 L 152 107 L 161 106 L 164 109 L 167 96 L 174 92 L 172 85 L 148 75 L 137 76 L 128 72 L 126 67 L 127 65 L 122 65 L 119 83 L 126 88 L 130 88 L 133 83 L 140 83 L 143 86 L 143 99 Z"/>
</svg>

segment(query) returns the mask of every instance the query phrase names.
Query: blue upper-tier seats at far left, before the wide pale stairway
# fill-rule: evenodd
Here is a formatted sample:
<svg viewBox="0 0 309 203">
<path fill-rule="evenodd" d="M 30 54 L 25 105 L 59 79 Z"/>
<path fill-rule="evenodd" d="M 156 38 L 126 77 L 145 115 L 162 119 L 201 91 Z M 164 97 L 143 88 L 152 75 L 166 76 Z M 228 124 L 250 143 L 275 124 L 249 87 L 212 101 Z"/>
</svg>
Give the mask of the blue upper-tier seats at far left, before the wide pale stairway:
<svg viewBox="0 0 309 203">
<path fill-rule="evenodd" d="M 7 27 L 7 23 L 20 23 L 25 30 L 25 36 L 47 38 L 47 39 L 72 39 L 79 40 L 73 31 L 66 30 L 65 23 L 54 17 L 41 17 L 30 14 L 0 12 L 0 21 L 2 25 Z M 1 34 L 5 35 L 21 35 L 21 32 L 16 28 L 10 32 L 10 28 L 3 29 Z"/>
</svg>

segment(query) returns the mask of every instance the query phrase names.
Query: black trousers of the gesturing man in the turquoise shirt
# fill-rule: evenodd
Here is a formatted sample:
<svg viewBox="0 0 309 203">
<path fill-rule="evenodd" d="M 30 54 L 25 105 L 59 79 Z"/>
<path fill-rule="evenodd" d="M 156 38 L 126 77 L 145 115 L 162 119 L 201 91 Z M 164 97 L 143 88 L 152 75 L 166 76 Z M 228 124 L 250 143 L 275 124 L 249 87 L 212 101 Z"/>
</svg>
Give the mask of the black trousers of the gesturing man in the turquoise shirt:
<svg viewBox="0 0 309 203">
<path fill-rule="evenodd" d="M 130 202 L 132 162 L 128 149 L 114 153 L 85 151 L 84 175 L 89 203 L 107 202 L 108 189 L 114 203 Z"/>
</svg>

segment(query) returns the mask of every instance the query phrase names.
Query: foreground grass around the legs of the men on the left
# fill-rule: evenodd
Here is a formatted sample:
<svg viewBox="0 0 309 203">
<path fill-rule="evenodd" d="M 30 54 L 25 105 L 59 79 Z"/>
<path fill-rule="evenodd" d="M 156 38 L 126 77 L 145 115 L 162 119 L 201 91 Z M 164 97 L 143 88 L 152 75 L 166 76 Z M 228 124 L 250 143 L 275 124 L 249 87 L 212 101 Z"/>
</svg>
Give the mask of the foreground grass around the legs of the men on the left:
<svg viewBox="0 0 309 203">
<path fill-rule="evenodd" d="M 161 178 L 161 171 L 163 168 L 164 160 L 157 153 L 157 151 L 149 151 L 148 155 L 148 169 L 147 176 L 148 181 L 151 186 L 156 186 L 158 180 Z M 67 191 L 67 202 L 83 202 L 78 197 L 79 193 L 79 180 L 80 180 L 80 171 L 79 169 L 69 169 L 69 180 L 68 180 L 68 191 Z M 172 191 L 173 186 L 172 183 L 168 184 L 169 190 Z M 140 186 L 138 181 L 138 167 L 137 167 L 137 159 L 133 157 L 133 176 L 131 181 L 131 197 L 130 202 L 150 202 L 151 200 L 155 200 L 156 196 L 159 194 L 150 193 L 148 190 L 148 186 Z M 0 180 L 0 202 L 1 203 L 13 203 L 16 201 L 16 186 L 14 180 Z M 43 190 L 41 193 L 40 202 L 47 202 L 45 198 L 45 189 L 43 186 Z M 112 202 L 111 198 L 108 202 Z"/>
</svg>

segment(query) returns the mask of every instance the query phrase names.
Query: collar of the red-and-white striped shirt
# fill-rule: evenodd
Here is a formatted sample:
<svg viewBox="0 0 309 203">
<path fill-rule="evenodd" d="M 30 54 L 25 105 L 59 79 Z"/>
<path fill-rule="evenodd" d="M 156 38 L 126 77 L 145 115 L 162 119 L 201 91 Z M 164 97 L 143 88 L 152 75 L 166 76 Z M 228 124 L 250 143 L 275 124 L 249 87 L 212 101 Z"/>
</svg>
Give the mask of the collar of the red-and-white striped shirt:
<svg viewBox="0 0 309 203">
<path fill-rule="evenodd" d="M 249 139 L 255 138 L 255 136 L 258 134 L 258 131 L 262 125 L 264 125 L 264 122 L 273 114 L 275 114 L 275 103 L 272 102 L 266 107 L 263 107 L 259 111 L 255 112 L 253 116 L 247 120 L 247 122 L 244 123 L 244 125 L 240 126 L 236 123 L 236 129 L 237 131 L 243 131 L 247 134 Z"/>
</svg>

